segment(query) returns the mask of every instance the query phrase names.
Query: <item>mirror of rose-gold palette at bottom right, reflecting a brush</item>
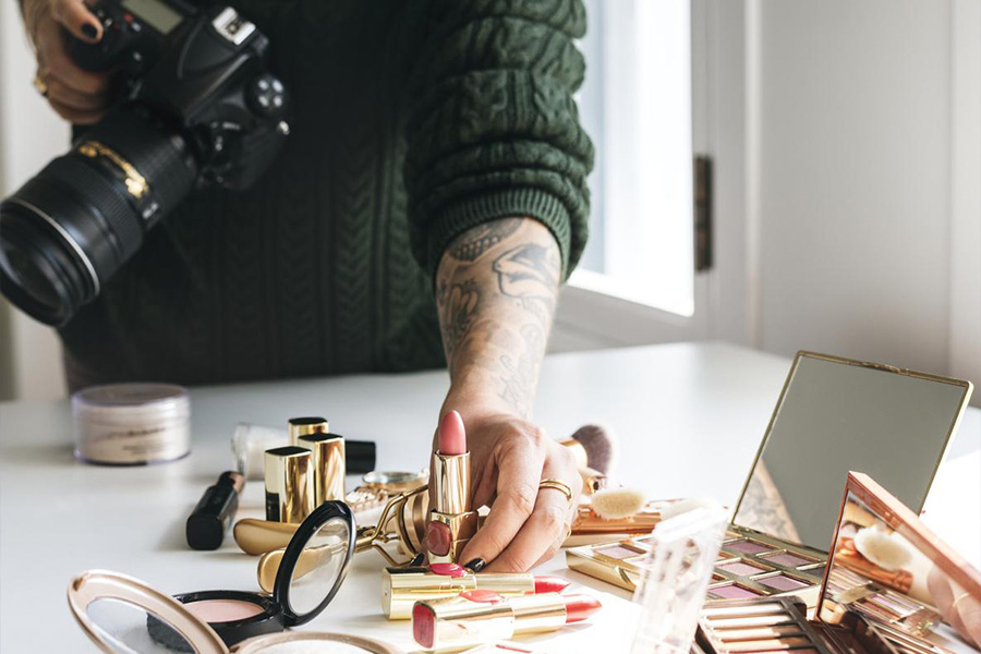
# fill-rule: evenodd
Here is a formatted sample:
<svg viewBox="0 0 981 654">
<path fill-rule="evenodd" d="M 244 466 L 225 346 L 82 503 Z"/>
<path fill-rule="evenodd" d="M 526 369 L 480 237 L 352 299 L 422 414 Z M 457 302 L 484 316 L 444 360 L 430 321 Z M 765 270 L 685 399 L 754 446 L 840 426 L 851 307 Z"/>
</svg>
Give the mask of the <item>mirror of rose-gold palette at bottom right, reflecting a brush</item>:
<svg viewBox="0 0 981 654">
<path fill-rule="evenodd" d="M 956 632 L 966 644 L 981 647 L 981 598 L 960 588 L 850 492 L 819 617 L 838 623 L 848 610 L 874 620 L 897 639 L 903 633 L 944 637 Z M 912 646 L 899 649 L 918 652 Z"/>
</svg>

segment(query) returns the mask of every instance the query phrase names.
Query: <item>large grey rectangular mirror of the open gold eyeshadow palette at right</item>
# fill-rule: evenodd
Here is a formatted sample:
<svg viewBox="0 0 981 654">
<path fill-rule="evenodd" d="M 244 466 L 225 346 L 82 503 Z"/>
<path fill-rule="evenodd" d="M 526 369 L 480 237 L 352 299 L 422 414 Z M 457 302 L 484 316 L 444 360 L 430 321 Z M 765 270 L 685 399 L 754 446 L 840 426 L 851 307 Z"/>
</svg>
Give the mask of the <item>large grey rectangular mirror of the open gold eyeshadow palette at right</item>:
<svg viewBox="0 0 981 654">
<path fill-rule="evenodd" d="M 966 388 L 816 355 L 795 363 L 734 523 L 826 550 L 849 470 L 922 508 Z"/>
</svg>

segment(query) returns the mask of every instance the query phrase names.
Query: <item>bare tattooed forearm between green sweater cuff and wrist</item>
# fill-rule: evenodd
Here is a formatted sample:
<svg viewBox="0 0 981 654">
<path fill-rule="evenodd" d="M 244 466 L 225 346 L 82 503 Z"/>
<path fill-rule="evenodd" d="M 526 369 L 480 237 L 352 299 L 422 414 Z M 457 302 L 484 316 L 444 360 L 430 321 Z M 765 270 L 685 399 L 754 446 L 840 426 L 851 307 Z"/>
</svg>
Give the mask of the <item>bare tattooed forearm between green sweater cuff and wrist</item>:
<svg viewBox="0 0 981 654">
<path fill-rule="evenodd" d="M 528 415 L 560 277 L 558 245 L 535 220 L 488 222 L 450 244 L 436 303 L 455 387 Z"/>
</svg>

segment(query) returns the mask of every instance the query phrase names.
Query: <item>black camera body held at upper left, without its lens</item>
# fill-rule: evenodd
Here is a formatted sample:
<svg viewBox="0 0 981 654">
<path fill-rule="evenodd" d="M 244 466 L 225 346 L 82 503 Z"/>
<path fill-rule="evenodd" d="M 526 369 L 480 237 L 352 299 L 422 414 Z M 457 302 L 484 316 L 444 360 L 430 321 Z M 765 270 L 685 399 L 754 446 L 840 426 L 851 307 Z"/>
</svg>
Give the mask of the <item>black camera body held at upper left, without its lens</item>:
<svg viewBox="0 0 981 654">
<path fill-rule="evenodd" d="M 197 186 L 242 190 L 265 172 L 289 134 L 288 95 L 266 69 L 269 39 L 231 7 L 183 0 L 100 0 L 102 39 L 72 39 L 72 59 L 120 71 L 136 102 L 189 137 Z"/>
</svg>

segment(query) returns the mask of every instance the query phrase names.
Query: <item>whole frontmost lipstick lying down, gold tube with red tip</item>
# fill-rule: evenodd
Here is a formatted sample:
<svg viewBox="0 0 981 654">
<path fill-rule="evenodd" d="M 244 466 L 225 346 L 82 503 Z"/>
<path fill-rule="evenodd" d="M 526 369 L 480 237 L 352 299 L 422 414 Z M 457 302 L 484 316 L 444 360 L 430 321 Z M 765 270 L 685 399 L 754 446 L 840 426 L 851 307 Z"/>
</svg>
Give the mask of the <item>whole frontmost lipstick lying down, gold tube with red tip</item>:
<svg viewBox="0 0 981 654">
<path fill-rule="evenodd" d="M 589 595 L 506 598 L 491 591 L 468 591 L 455 600 L 416 602 L 412 635 L 426 651 L 452 652 L 523 633 L 556 631 L 598 609 L 600 602 Z"/>
</svg>

